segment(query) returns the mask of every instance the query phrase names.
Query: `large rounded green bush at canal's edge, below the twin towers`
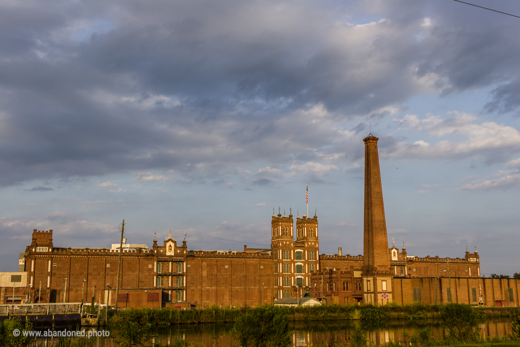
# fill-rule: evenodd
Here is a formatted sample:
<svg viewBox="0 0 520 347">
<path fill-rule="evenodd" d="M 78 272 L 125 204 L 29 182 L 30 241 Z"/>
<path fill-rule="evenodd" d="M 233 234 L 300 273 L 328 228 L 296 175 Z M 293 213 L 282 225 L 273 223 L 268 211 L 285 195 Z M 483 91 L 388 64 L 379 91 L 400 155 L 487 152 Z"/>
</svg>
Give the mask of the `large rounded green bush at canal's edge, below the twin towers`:
<svg viewBox="0 0 520 347">
<path fill-rule="evenodd" d="M 272 305 L 239 316 L 231 333 L 243 347 L 287 347 L 292 336 L 287 313 Z"/>
</svg>

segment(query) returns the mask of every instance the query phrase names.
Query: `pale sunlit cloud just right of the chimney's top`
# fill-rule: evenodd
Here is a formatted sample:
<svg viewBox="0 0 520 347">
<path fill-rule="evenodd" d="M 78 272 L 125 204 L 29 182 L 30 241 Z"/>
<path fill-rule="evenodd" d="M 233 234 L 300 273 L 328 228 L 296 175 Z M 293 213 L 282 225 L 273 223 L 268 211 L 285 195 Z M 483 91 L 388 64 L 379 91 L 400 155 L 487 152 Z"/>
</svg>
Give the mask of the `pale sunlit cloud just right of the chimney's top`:
<svg viewBox="0 0 520 347">
<path fill-rule="evenodd" d="M 505 160 L 520 151 L 520 134 L 509 125 L 495 122 L 477 123 L 474 115 L 450 112 L 451 117 L 441 119 L 434 115 L 419 119 L 408 114 L 394 121 L 414 130 L 425 131 L 435 137 L 458 136 L 460 140 L 443 139 L 436 143 L 417 140 L 413 144 L 398 142 L 385 149 L 385 155 L 400 159 L 460 159 L 480 157 L 487 163 Z"/>
</svg>

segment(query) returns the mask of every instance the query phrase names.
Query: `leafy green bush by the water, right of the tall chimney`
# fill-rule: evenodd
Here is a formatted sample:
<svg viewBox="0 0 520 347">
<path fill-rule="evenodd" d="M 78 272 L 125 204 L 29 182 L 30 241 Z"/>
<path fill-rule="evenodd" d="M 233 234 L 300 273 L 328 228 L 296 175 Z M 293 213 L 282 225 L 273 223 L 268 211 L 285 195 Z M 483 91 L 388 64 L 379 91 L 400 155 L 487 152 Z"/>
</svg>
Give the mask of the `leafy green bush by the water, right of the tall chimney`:
<svg viewBox="0 0 520 347">
<path fill-rule="evenodd" d="M 450 337 L 459 342 L 470 342 L 475 339 L 477 314 L 467 304 L 447 304 L 440 313 L 445 328 Z"/>
</svg>

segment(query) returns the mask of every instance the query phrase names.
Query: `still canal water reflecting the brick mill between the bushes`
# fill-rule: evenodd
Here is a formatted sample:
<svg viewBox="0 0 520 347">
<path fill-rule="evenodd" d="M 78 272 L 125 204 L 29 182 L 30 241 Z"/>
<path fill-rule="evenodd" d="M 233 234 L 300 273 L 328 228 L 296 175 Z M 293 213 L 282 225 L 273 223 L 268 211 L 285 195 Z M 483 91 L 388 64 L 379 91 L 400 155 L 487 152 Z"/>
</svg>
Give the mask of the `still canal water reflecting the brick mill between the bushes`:
<svg viewBox="0 0 520 347">
<path fill-rule="evenodd" d="M 502 337 L 512 333 L 511 318 L 490 318 L 479 323 L 480 333 L 486 337 Z M 157 328 L 154 331 L 154 342 L 173 344 L 178 339 L 202 342 L 205 346 L 232 346 L 230 335 L 232 324 L 193 324 L 172 325 Z M 334 341 L 347 344 L 356 329 L 365 331 L 372 345 L 381 345 L 389 341 L 397 341 L 409 345 L 410 340 L 403 332 L 417 335 L 419 331 L 432 329 L 434 338 L 447 336 L 438 319 L 406 320 L 392 319 L 387 322 L 367 322 L 363 320 L 335 320 L 332 322 L 290 322 L 294 330 L 293 346 L 332 345 Z M 88 330 L 88 329 L 86 329 Z M 112 346 L 115 330 L 110 330 L 110 338 L 96 338 L 94 346 Z M 56 339 L 38 339 L 44 342 L 55 342 Z"/>
</svg>

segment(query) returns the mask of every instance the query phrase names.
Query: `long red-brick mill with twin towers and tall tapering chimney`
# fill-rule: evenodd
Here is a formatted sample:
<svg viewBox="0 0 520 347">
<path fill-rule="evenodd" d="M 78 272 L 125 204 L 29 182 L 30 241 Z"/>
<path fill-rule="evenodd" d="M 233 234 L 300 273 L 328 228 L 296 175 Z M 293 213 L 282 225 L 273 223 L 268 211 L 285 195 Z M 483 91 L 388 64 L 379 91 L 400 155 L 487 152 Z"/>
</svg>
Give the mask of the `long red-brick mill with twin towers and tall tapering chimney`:
<svg viewBox="0 0 520 347">
<path fill-rule="evenodd" d="M 363 255 L 319 254 L 318 216 L 273 214 L 271 247 L 243 251 L 189 250 L 186 239 L 123 245 L 119 307 L 266 304 L 281 298 L 322 302 L 411 302 L 517 306 L 518 280 L 480 277 L 479 255 L 461 258 L 410 256 L 388 248 L 378 158 L 378 138 L 365 139 Z M 119 245 L 108 248 L 54 246 L 53 230 L 33 230 L 22 253 L 27 283 L 2 280 L 2 302 L 115 303 Z M 16 273 L 12 276 L 18 276 Z M 3 277 L 2 277 L 3 278 Z M 7 277 L 6 277 L 7 278 Z M 11 277 L 13 278 L 13 277 Z M 16 277 L 18 278 L 18 277 Z M 11 280 L 12 281 L 12 280 Z M 15 298 L 9 290 L 14 285 Z M 9 287 L 11 289 L 9 289 Z M 482 295 L 482 296 L 481 296 Z"/>
</svg>

